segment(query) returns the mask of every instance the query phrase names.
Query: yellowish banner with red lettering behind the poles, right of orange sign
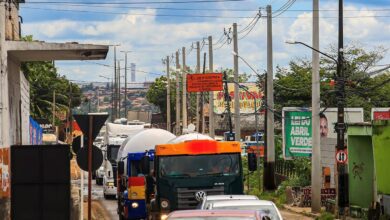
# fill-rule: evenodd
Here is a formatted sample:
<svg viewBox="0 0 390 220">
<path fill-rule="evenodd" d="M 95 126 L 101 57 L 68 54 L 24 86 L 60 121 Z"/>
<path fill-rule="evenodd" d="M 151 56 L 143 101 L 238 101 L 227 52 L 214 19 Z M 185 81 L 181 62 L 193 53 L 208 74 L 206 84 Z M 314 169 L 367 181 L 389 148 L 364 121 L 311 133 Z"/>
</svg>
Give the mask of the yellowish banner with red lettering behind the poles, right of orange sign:
<svg viewBox="0 0 390 220">
<path fill-rule="evenodd" d="M 255 83 L 240 83 L 245 85 L 249 92 L 256 98 L 256 107 L 257 109 L 261 106 L 261 99 L 263 97 L 263 91 L 261 91 Z M 231 98 L 230 102 L 230 111 L 234 113 L 234 83 L 228 84 L 229 95 Z M 239 92 L 239 102 L 240 102 L 240 113 L 248 114 L 254 113 L 255 111 L 255 101 L 253 96 L 248 94 L 243 89 L 240 89 Z M 214 112 L 217 114 L 222 114 L 226 110 L 225 108 L 225 99 L 224 99 L 224 91 L 214 92 Z"/>
</svg>

